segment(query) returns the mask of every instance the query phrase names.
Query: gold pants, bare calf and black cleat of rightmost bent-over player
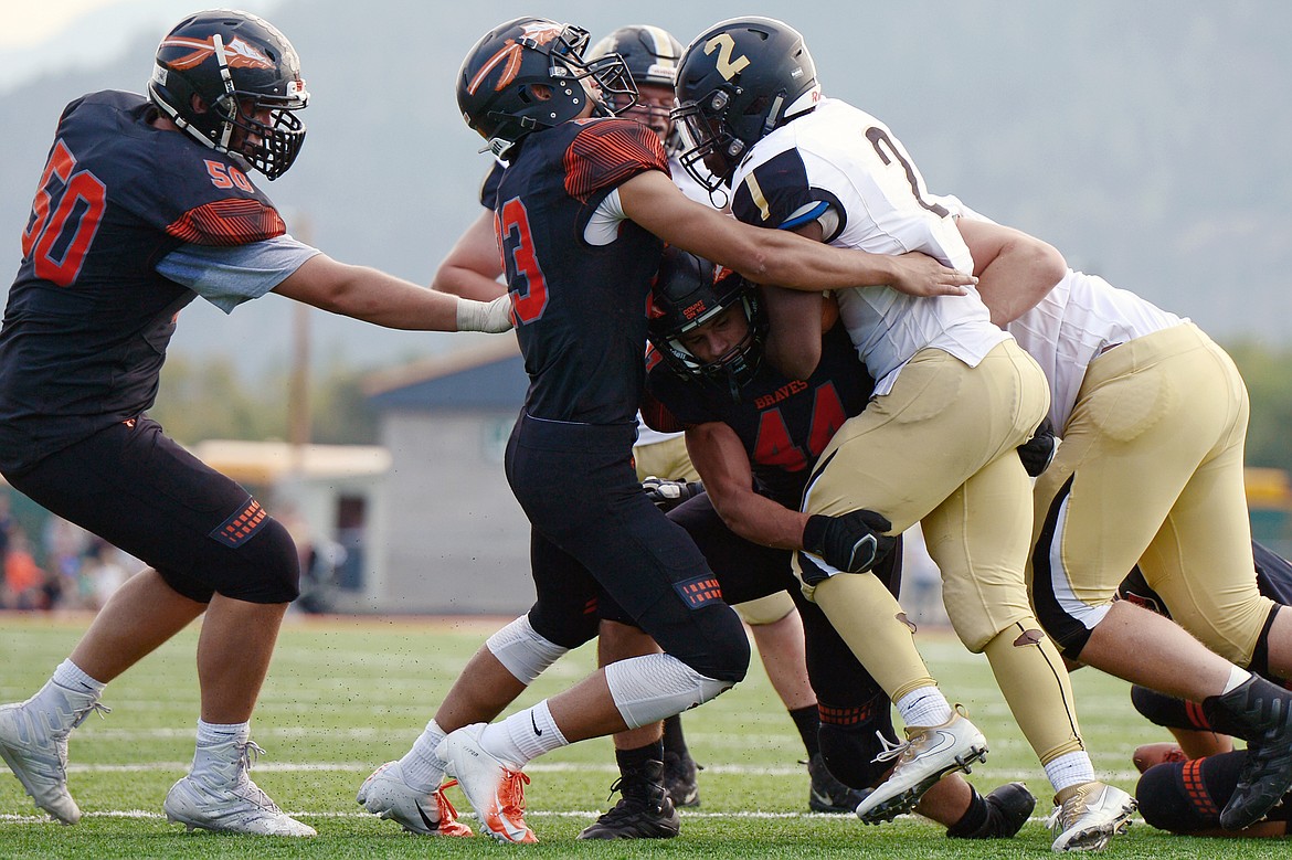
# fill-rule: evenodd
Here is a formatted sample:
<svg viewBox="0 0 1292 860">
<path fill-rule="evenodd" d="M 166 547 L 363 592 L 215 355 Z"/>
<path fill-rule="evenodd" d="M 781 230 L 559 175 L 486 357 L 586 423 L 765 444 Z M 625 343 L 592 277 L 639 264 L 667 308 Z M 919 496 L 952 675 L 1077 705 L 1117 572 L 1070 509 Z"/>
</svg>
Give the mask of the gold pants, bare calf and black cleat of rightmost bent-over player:
<svg viewBox="0 0 1292 860">
<path fill-rule="evenodd" d="M 1087 372 L 1054 474 L 1037 482 L 1043 522 L 1034 554 L 1037 612 L 1068 657 L 1202 701 L 1262 750 L 1248 758 L 1252 772 L 1226 811 L 1235 828 L 1260 817 L 1292 783 L 1292 696 L 1181 626 L 1245 660 L 1269 617 L 1252 576 L 1243 502 L 1245 424 L 1233 362 L 1193 325 L 1101 355 Z M 1137 560 L 1181 626 L 1110 603 L 1120 571 Z"/>
</svg>

